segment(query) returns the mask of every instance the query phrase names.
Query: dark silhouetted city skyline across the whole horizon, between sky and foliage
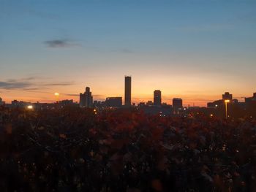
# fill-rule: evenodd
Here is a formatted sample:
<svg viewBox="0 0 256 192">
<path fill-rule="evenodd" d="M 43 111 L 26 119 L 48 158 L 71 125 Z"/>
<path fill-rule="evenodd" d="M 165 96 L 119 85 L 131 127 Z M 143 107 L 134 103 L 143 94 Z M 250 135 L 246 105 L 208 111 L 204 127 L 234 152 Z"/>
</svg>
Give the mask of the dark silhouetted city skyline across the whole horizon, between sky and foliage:
<svg viewBox="0 0 256 192">
<path fill-rule="evenodd" d="M 31 103 L 26 101 L 13 100 L 11 104 L 5 104 L 0 98 L 0 105 L 7 107 L 25 107 L 28 109 L 56 109 L 56 107 L 86 107 L 86 108 L 97 108 L 98 110 L 105 109 L 116 109 L 116 108 L 127 108 L 133 107 L 138 110 L 151 115 L 184 115 L 193 116 L 200 114 L 207 114 L 210 117 L 219 116 L 223 117 L 240 117 L 243 115 L 249 115 L 249 117 L 256 116 L 256 93 L 253 93 L 251 97 L 244 98 L 244 102 L 234 99 L 233 95 L 229 92 L 222 94 L 222 99 L 217 101 L 208 102 L 207 107 L 184 107 L 183 100 L 181 98 L 173 98 L 172 105 L 162 103 L 162 92 L 155 90 L 153 93 L 154 100 L 140 102 L 137 106 L 132 104 L 132 77 L 124 77 L 124 104 L 122 103 L 121 96 L 107 97 L 105 101 L 94 101 L 91 90 L 86 87 L 84 93 L 80 93 L 79 103 L 73 100 L 62 100 L 59 101 L 59 93 L 56 103 Z M 228 109 L 227 109 L 228 108 Z"/>
</svg>

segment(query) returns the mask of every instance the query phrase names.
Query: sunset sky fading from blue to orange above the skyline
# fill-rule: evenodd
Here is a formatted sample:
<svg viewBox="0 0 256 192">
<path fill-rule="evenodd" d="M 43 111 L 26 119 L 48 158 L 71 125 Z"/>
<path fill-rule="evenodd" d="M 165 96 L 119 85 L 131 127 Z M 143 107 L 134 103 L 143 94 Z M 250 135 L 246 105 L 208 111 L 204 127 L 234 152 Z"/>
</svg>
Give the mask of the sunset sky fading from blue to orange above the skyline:
<svg viewBox="0 0 256 192">
<path fill-rule="evenodd" d="M 7 102 L 174 97 L 206 106 L 256 92 L 256 1 L 0 0 L 0 97 Z"/>
</svg>

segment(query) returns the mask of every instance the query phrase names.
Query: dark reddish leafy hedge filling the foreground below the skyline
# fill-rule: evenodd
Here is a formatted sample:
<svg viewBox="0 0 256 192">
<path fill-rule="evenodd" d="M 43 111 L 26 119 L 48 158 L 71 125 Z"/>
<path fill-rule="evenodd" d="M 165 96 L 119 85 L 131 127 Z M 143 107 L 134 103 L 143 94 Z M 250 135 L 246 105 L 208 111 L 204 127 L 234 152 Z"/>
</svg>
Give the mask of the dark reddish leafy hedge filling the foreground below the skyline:
<svg viewBox="0 0 256 192">
<path fill-rule="evenodd" d="M 0 191 L 256 191 L 255 159 L 252 119 L 0 109 Z"/>
</svg>

